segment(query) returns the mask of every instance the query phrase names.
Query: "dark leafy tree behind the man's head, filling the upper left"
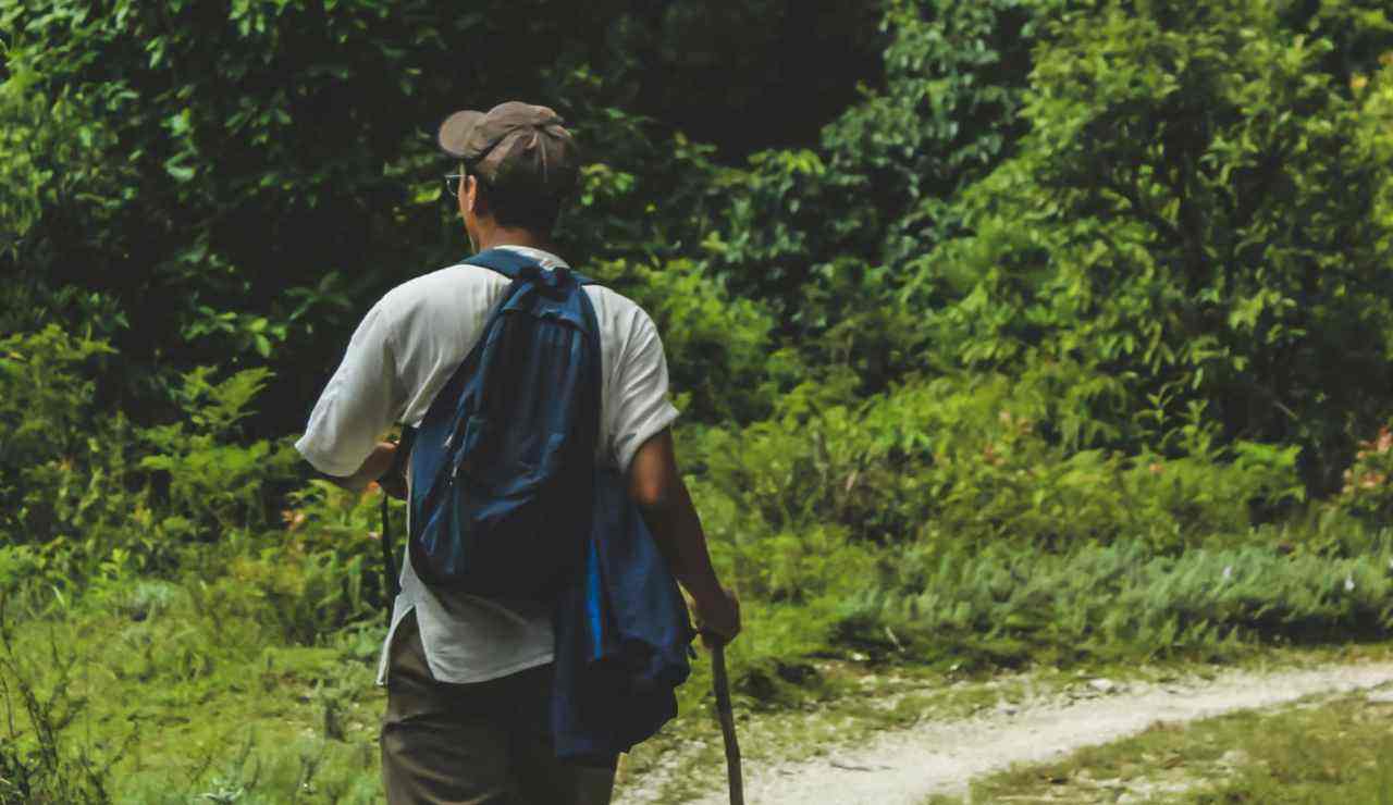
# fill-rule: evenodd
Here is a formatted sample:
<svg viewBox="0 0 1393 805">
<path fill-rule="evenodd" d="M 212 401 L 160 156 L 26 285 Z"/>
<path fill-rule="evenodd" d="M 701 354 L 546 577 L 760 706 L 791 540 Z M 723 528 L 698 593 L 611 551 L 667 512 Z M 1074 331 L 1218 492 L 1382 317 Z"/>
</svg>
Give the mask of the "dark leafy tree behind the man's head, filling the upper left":
<svg viewBox="0 0 1393 805">
<path fill-rule="evenodd" d="M 731 52 L 741 54 L 723 75 L 759 96 L 779 54 L 712 39 L 710 53 L 684 52 L 690 63 L 663 61 L 645 36 L 670 39 L 694 18 L 762 29 L 788 13 L 684 1 L 655 17 L 634 0 L 465 11 L 425 0 L 0 0 L 0 114 L 26 127 L 0 150 L 13 180 L 0 220 L 22 233 L 0 270 L 28 288 L 4 315 L 109 337 L 123 364 L 103 389 L 153 418 L 194 365 L 293 359 L 260 422 L 294 428 L 357 316 L 465 249 L 432 141 L 447 110 L 506 97 L 556 106 L 592 159 L 568 247 L 584 260 L 657 265 L 701 240 L 712 150 L 631 102 L 666 99 Z M 822 68 L 836 75 L 837 64 Z M 742 125 L 733 104 L 710 117 Z"/>
</svg>

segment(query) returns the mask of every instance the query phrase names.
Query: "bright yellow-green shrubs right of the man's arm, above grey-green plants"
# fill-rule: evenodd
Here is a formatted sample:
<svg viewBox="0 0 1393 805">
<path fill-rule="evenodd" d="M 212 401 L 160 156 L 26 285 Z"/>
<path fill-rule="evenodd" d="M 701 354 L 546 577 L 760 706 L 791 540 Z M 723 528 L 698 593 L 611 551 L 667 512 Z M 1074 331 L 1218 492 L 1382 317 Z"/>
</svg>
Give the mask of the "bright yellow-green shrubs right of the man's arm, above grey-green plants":
<svg viewBox="0 0 1393 805">
<path fill-rule="evenodd" d="M 1049 425 L 1060 407 L 1049 386 L 944 377 L 740 432 L 699 430 L 684 447 L 703 515 L 737 543 L 819 533 L 1060 550 L 1133 536 L 1176 552 L 1247 532 L 1262 510 L 1302 497 L 1294 447 L 1220 447 L 1197 415 L 1170 455 L 1077 451 L 1042 433 L 1059 430 Z M 762 552 L 763 564 L 779 561 L 772 545 Z"/>
</svg>

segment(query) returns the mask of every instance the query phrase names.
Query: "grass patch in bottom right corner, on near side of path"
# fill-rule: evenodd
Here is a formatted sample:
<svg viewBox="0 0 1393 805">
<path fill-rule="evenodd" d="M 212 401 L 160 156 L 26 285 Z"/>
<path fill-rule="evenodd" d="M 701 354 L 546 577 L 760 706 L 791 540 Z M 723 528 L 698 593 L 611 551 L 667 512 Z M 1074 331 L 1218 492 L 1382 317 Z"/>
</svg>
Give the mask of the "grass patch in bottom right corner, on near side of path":
<svg viewBox="0 0 1393 805">
<path fill-rule="evenodd" d="M 1393 805 L 1393 691 L 1146 731 L 978 780 L 971 802 Z M 960 802 L 935 797 L 929 802 Z"/>
</svg>

